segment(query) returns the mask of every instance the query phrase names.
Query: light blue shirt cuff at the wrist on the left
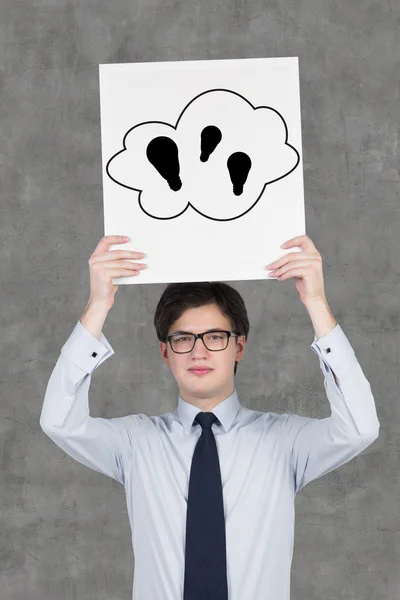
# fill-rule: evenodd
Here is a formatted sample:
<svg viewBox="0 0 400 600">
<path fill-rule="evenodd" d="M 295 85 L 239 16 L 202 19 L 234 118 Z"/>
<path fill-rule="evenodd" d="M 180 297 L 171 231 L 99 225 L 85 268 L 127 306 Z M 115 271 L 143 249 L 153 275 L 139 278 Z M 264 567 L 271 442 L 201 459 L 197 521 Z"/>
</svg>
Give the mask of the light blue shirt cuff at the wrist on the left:
<svg viewBox="0 0 400 600">
<path fill-rule="evenodd" d="M 89 374 L 112 356 L 114 350 L 103 333 L 98 340 L 79 320 L 61 348 L 61 353 L 74 365 Z"/>
</svg>

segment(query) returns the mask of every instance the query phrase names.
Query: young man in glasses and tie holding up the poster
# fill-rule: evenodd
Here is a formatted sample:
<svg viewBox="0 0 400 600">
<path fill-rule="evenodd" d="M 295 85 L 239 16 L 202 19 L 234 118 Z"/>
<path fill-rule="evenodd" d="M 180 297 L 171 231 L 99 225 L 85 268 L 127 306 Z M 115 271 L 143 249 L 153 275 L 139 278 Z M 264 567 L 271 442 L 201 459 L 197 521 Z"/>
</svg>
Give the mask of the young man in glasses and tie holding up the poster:
<svg viewBox="0 0 400 600">
<path fill-rule="evenodd" d="M 302 252 L 267 267 L 280 281 L 295 279 L 310 315 L 329 418 L 241 405 L 234 376 L 249 322 L 240 294 L 223 283 L 171 284 L 157 306 L 177 409 L 93 418 L 91 375 L 113 354 L 102 334 L 112 278 L 141 268 L 125 260 L 138 253 L 109 250 L 123 241 L 104 237 L 89 259 L 90 299 L 51 374 L 41 427 L 71 457 L 124 485 L 134 600 L 289 600 L 296 493 L 379 433 L 370 385 L 325 296 L 321 256 L 300 236 L 283 247 Z"/>
</svg>

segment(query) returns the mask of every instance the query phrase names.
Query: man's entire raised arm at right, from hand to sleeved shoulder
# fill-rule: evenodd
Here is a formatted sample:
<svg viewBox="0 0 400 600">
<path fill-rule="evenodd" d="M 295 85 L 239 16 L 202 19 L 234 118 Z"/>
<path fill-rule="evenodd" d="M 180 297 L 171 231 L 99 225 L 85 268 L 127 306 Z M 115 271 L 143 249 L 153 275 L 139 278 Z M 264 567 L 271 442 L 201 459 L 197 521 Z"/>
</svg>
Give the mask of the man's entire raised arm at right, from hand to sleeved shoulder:
<svg viewBox="0 0 400 600">
<path fill-rule="evenodd" d="M 298 492 L 307 483 L 354 458 L 379 435 L 371 386 L 354 350 L 336 322 L 325 295 L 322 257 L 308 235 L 287 240 L 281 248 L 300 247 L 267 265 L 270 277 L 295 279 L 316 338 L 312 344 L 324 374 L 331 404 L 327 419 L 286 416 L 286 433 Z"/>
</svg>

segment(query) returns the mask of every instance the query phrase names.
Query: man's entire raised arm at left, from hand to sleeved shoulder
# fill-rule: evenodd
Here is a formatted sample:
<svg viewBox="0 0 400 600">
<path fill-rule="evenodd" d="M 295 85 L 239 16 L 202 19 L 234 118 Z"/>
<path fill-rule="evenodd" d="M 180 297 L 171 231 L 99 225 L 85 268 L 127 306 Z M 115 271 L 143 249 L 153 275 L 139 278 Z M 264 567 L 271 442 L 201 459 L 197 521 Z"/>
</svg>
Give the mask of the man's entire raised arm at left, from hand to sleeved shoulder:
<svg viewBox="0 0 400 600">
<path fill-rule="evenodd" d="M 43 431 L 67 454 L 120 483 L 125 482 L 125 461 L 131 456 L 132 432 L 139 419 L 136 415 L 93 418 L 89 415 L 88 396 L 93 371 L 114 354 L 102 333 L 118 289 L 113 280 L 137 275 L 143 267 L 130 262 L 142 258 L 143 253 L 110 250 L 113 244 L 128 241 L 126 236 L 106 235 L 90 256 L 89 301 L 61 350 L 47 384 L 40 416 Z"/>
</svg>

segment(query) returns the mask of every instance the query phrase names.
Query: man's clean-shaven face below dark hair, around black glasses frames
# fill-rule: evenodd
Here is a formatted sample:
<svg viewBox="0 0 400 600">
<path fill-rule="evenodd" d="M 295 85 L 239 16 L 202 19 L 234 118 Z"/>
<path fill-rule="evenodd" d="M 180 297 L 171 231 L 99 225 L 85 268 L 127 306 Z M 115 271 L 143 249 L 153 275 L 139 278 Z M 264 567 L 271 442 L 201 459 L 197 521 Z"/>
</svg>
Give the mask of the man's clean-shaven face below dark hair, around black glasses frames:
<svg viewBox="0 0 400 600">
<path fill-rule="evenodd" d="M 210 329 L 232 331 L 232 324 L 216 304 L 187 309 L 169 328 L 168 334 L 178 331 L 203 333 Z M 212 398 L 232 393 L 235 361 L 242 359 L 246 340 L 244 336 L 230 337 L 225 350 L 207 350 L 202 340 L 197 339 L 191 352 L 175 353 L 170 343 L 160 342 L 164 362 L 171 368 L 178 383 L 181 396 Z M 211 369 L 205 374 L 196 374 L 195 368 Z"/>
</svg>

